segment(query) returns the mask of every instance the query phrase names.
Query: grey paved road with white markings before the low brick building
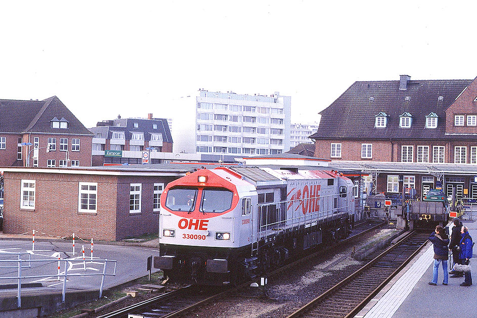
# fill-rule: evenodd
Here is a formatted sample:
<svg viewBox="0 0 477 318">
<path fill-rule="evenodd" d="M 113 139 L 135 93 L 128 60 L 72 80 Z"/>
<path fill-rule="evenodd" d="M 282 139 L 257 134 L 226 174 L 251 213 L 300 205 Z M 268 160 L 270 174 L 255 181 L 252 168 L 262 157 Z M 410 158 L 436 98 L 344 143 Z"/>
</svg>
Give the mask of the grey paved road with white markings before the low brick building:
<svg viewBox="0 0 477 318">
<path fill-rule="evenodd" d="M 85 249 L 85 261 L 81 253 L 81 247 Z M 22 255 L 22 259 L 47 259 L 45 262 L 30 262 L 31 268 L 23 268 L 22 276 L 36 276 L 48 275 L 48 278 L 32 278 L 25 279 L 22 283 L 41 283 L 42 288 L 28 288 L 22 289 L 24 292 L 57 292 L 63 288 L 63 279 L 58 281 L 58 256 L 61 259 L 68 259 L 67 268 L 68 274 L 92 274 L 103 273 L 104 262 L 99 259 L 116 260 L 116 276 L 107 276 L 104 282 L 104 288 L 117 286 L 119 284 L 143 277 L 148 274 L 146 270 L 147 257 L 150 255 L 158 255 L 158 249 L 153 247 L 140 246 L 123 246 L 123 245 L 103 245 L 94 244 L 93 259 L 91 257 L 91 243 L 90 242 L 75 242 L 75 254 L 73 254 L 71 241 L 48 241 L 35 242 L 34 250 L 32 250 L 31 241 L 20 240 L 0 240 L 0 259 L 17 259 L 17 255 L 8 255 L 7 253 L 27 253 Z M 14 266 L 17 267 L 17 262 L 1 262 L 0 266 Z M 86 270 L 85 270 L 86 269 Z M 65 262 L 60 263 L 60 273 L 65 271 Z M 108 263 L 107 273 L 114 272 L 114 263 Z M 18 268 L 0 268 L 0 278 L 2 277 L 16 277 L 18 275 Z M 2 284 L 16 284 L 17 280 L 0 279 Z M 69 276 L 67 280 L 67 290 L 88 290 L 99 289 L 101 283 L 101 275 L 99 276 Z M 5 294 L 16 294 L 16 289 L 0 289 L 0 297 Z"/>
</svg>

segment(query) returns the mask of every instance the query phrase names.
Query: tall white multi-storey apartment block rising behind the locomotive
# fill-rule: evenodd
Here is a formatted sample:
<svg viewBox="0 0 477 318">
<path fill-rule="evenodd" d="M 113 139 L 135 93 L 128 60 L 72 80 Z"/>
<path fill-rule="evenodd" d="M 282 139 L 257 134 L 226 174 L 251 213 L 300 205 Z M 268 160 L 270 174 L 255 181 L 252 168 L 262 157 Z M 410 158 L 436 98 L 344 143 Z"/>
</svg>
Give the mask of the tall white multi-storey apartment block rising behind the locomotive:
<svg viewBox="0 0 477 318">
<path fill-rule="evenodd" d="M 196 148 L 202 158 L 278 154 L 290 149 L 291 97 L 199 90 Z"/>
</svg>

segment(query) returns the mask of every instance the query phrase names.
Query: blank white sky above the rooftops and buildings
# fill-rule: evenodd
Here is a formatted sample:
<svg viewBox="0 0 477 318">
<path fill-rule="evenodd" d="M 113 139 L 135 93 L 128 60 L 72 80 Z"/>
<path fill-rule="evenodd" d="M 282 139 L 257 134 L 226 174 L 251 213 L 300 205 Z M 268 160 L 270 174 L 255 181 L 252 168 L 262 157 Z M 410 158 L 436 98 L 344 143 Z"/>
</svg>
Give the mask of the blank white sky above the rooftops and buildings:
<svg viewBox="0 0 477 318">
<path fill-rule="evenodd" d="M 476 3 L 0 0 L 0 98 L 176 126 L 199 88 L 279 91 L 314 122 L 355 81 L 475 78 Z"/>
</svg>

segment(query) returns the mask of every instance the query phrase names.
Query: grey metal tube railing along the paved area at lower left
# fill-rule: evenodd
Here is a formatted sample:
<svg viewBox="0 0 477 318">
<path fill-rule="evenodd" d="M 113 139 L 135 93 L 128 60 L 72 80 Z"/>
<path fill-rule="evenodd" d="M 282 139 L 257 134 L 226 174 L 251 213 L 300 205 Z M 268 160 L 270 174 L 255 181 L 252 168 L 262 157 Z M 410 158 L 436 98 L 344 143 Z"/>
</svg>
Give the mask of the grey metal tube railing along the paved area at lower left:
<svg viewBox="0 0 477 318">
<path fill-rule="evenodd" d="M 75 276 L 102 276 L 101 278 L 101 284 L 99 288 L 99 298 L 103 296 L 103 286 L 104 286 L 104 279 L 106 276 L 115 276 L 116 275 L 116 260 L 111 260 L 111 259 L 95 259 L 96 263 L 103 263 L 103 273 L 81 273 L 81 274 L 69 274 L 68 273 L 68 262 L 73 261 L 72 259 L 64 258 L 64 259 L 58 259 L 58 264 L 60 262 L 64 262 L 64 272 L 60 273 L 55 273 L 54 275 L 23 275 L 22 274 L 22 269 L 24 268 L 31 268 L 31 264 L 35 262 L 48 262 L 52 263 L 52 259 L 22 259 L 21 255 L 24 255 L 27 253 L 0 253 L 0 255 L 18 255 L 17 259 L 0 259 L 0 264 L 2 263 L 12 263 L 16 262 L 17 266 L 5 266 L 5 267 L 0 267 L 0 268 L 17 268 L 17 276 L 8 276 L 8 277 L 0 277 L 0 280 L 16 280 L 17 281 L 17 306 L 18 308 L 21 307 L 21 292 L 22 292 L 22 280 L 26 279 L 32 279 L 32 278 L 49 278 L 49 277 L 58 277 L 58 280 L 60 280 L 60 277 L 63 278 L 63 290 L 62 290 L 62 302 L 65 302 L 65 295 L 66 295 L 66 282 L 67 282 L 67 277 L 75 277 Z M 83 262 L 84 260 L 78 260 L 78 262 Z M 56 262 L 56 260 L 55 260 Z M 112 273 L 107 273 L 107 264 L 112 262 L 114 264 Z M 25 265 L 23 264 L 25 263 Z M 60 268 L 60 265 L 58 265 L 58 270 Z"/>
</svg>

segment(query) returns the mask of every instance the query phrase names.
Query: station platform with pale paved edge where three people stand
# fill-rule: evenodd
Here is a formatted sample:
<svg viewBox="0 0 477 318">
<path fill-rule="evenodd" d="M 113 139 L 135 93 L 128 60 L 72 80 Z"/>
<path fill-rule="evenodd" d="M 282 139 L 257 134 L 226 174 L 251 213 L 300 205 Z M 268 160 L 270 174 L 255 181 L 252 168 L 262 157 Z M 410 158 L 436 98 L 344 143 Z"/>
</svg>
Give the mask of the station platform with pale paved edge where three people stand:
<svg viewBox="0 0 477 318">
<path fill-rule="evenodd" d="M 477 222 L 461 220 L 469 228 L 470 236 L 477 239 Z M 449 231 L 453 224 L 449 224 Z M 432 286 L 434 251 L 430 242 L 389 282 L 355 318 L 435 318 L 455 315 L 473 316 L 477 312 L 477 259 L 472 255 L 472 286 L 460 286 L 464 278 L 451 278 L 442 285 L 444 276 L 439 268 L 438 285 Z M 449 261 L 448 261 L 449 268 Z M 450 271 L 448 269 L 448 271 Z"/>
</svg>

